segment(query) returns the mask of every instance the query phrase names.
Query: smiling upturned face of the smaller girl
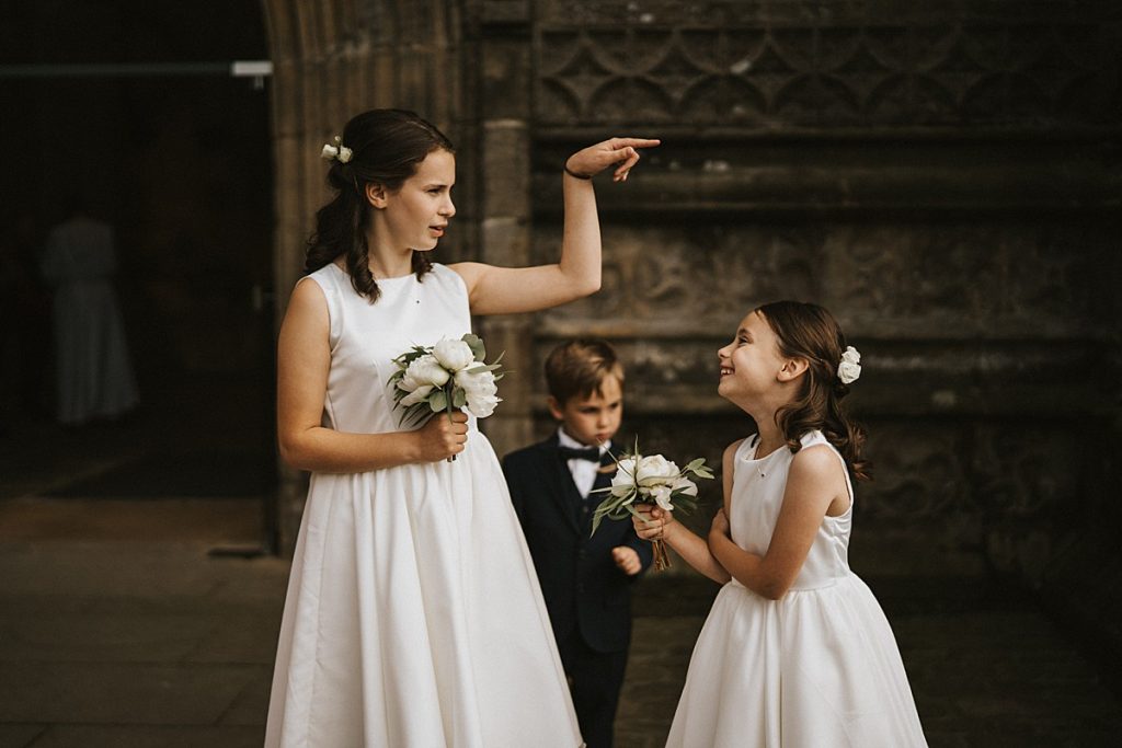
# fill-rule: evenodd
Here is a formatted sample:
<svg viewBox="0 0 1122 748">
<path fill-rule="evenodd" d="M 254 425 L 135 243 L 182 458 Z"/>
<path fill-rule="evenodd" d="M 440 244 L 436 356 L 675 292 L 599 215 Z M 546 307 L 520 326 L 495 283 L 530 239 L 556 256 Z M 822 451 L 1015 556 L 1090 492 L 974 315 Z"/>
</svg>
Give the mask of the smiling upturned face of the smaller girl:
<svg viewBox="0 0 1122 748">
<path fill-rule="evenodd" d="M 718 350 L 717 358 L 717 394 L 742 407 L 772 391 L 787 363 L 779 352 L 779 339 L 760 312 L 744 317 L 733 342 Z"/>
</svg>

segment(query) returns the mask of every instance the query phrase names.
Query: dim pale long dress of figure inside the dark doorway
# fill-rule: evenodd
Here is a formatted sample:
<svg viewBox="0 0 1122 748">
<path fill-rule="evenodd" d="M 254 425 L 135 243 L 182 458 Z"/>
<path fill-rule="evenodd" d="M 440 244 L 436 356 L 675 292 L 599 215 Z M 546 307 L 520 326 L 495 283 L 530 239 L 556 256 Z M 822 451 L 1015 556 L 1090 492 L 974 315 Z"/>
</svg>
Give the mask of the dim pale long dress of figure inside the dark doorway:
<svg viewBox="0 0 1122 748">
<path fill-rule="evenodd" d="M 113 230 L 77 216 L 52 229 L 40 260 L 54 288 L 58 421 L 79 425 L 137 406 L 136 376 L 113 289 Z"/>
</svg>

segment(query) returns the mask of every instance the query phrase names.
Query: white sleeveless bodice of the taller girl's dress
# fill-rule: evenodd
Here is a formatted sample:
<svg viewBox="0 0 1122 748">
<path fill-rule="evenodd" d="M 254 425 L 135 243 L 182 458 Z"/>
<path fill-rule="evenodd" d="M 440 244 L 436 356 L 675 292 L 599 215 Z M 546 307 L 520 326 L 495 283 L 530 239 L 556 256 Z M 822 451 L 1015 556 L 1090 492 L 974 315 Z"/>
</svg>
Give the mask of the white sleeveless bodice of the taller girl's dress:
<svg viewBox="0 0 1122 748">
<path fill-rule="evenodd" d="M 329 262 L 307 276 L 323 289 L 330 317 L 331 370 L 323 401 L 323 425 L 335 431 L 378 434 L 405 431 L 395 409 L 389 376 L 394 359 L 413 345 L 471 332 L 468 289 L 444 265 L 416 274 L 379 278 L 371 304 L 351 287 L 350 277 Z M 469 416 L 473 426 L 475 418 Z"/>
</svg>

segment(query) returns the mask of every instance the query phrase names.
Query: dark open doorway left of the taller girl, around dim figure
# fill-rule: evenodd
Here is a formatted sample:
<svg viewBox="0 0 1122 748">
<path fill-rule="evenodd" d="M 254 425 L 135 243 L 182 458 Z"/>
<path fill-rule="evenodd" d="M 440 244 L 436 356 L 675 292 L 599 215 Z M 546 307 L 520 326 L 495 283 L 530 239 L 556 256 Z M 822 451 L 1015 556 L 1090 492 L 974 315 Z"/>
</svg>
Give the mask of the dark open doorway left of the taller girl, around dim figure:
<svg viewBox="0 0 1122 748">
<path fill-rule="evenodd" d="M 215 541 L 268 545 L 269 92 L 267 76 L 232 75 L 234 61 L 266 58 L 256 0 L 6 7 L 0 242 L 6 290 L 18 283 L 19 293 L 0 318 L 0 498 L 38 519 L 34 530 L 0 523 L 4 532 L 151 532 L 104 523 L 111 507 L 175 517 L 200 538 L 210 515 L 224 525 Z M 37 256 L 75 192 L 116 229 L 140 407 L 64 428 L 53 417 L 52 289 Z M 215 501 L 221 511 L 206 508 Z"/>
</svg>

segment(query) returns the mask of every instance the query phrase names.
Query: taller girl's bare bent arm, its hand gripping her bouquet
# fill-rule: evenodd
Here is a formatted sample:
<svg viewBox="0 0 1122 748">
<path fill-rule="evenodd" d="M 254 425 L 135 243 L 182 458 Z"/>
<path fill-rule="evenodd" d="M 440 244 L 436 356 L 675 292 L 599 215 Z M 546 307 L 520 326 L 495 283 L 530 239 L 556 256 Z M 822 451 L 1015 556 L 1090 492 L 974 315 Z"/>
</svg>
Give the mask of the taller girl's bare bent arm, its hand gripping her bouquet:
<svg viewBox="0 0 1122 748">
<path fill-rule="evenodd" d="M 311 280 L 297 284 L 277 342 L 277 441 L 298 470 L 364 472 L 436 462 L 463 451 L 467 416 L 431 418 L 414 432 L 350 434 L 321 425 L 331 368 L 328 305 Z"/>
</svg>

